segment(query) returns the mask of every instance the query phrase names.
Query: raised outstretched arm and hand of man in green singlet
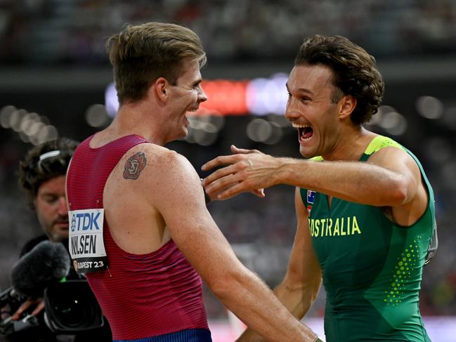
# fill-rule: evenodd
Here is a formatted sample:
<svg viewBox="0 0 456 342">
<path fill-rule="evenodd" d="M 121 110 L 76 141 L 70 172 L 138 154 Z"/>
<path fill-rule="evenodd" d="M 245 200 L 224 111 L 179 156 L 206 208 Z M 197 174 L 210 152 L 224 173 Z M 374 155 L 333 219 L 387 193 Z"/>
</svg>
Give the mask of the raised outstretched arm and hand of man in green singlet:
<svg viewBox="0 0 456 342">
<path fill-rule="evenodd" d="M 417 197 L 421 185 L 417 164 L 407 152 L 396 147 L 379 150 L 369 162 L 313 162 L 250 153 L 217 157 L 203 169 L 220 165 L 228 166 L 204 180 L 209 194 L 227 189 L 219 198 L 282 183 L 351 202 L 403 206 Z"/>
</svg>

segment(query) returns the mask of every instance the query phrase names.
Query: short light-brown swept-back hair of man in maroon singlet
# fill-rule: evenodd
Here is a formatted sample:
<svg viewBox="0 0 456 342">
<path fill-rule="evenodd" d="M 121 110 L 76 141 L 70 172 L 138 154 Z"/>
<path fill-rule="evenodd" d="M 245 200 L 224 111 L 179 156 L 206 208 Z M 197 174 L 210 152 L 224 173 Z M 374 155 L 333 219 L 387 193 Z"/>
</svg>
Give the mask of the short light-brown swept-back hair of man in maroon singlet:
<svg viewBox="0 0 456 342">
<path fill-rule="evenodd" d="M 184 59 L 197 60 L 200 67 L 206 64 L 206 53 L 195 32 L 162 22 L 127 25 L 108 39 L 106 50 L 121 105 L 126 100 L 141 100 L 159 77 L 175 85 Z"/>
</svg>

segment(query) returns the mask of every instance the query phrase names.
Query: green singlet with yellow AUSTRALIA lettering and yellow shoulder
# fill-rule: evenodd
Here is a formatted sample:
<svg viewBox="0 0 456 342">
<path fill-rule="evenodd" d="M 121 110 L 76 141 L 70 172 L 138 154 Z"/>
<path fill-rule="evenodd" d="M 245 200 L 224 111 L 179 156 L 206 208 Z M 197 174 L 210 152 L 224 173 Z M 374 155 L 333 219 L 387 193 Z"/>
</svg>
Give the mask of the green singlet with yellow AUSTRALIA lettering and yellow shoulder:
<svg viewBox="0 0 456 342">
<path fill-rule="evenodd" d="M 301 189 L 327 293 L 328 342 L 430 341 L 418 301 L 435 224 L 434 192 L 417 158 L 390 138 L 374 138 L 360 161 L 388 146 L 415 159 L 429 194 L 426 211 L 410 227 L 391 222 L 380 207 L 336 197 L 330 207 L 326 195 Z"/>
</svg>

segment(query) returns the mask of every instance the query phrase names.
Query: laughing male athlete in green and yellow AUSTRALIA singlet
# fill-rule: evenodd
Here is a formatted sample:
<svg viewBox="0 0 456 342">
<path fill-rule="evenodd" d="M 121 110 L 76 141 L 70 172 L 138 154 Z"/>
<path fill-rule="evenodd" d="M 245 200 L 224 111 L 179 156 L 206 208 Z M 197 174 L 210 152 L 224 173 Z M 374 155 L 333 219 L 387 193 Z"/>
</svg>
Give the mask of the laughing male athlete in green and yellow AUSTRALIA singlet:
<svg viewBox="0 0 456 342">
<path fill-rule="evenodd" d="M 384 91 L 374 58 L 344 37 L 312 37 L 287 91 L 285 117 L 306 159 L 232 146 L 232 155 L 203 166 L 228 165 L 204 180 L 207 194 L 297 187 L 297 234 L 275 294 L 301 318 L 323 278 L 328 342 L 430 341 L 418 302 L 434 193 L 410 151 L 363 127 Z M 247 329 L 240 341 L 261 338 Z"/>
</svg>

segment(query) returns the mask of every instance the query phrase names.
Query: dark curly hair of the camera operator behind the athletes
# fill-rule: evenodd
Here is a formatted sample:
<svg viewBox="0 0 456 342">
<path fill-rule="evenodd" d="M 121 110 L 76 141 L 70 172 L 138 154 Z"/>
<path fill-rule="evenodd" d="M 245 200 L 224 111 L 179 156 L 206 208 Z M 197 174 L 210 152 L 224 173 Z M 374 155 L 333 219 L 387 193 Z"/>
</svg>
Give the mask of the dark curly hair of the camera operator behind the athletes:
<svg viewBox="0 0 456 342">
<path fill-rule="evenodd" d="M 77 141 L 69 138 L 51 140 L 33 147 L 19 162 L 19 186 L 27 194 L 31 209 L 34 209 L 33 201 L 42 183 L 66 175 L 78 145 Z"/>
</svg>

